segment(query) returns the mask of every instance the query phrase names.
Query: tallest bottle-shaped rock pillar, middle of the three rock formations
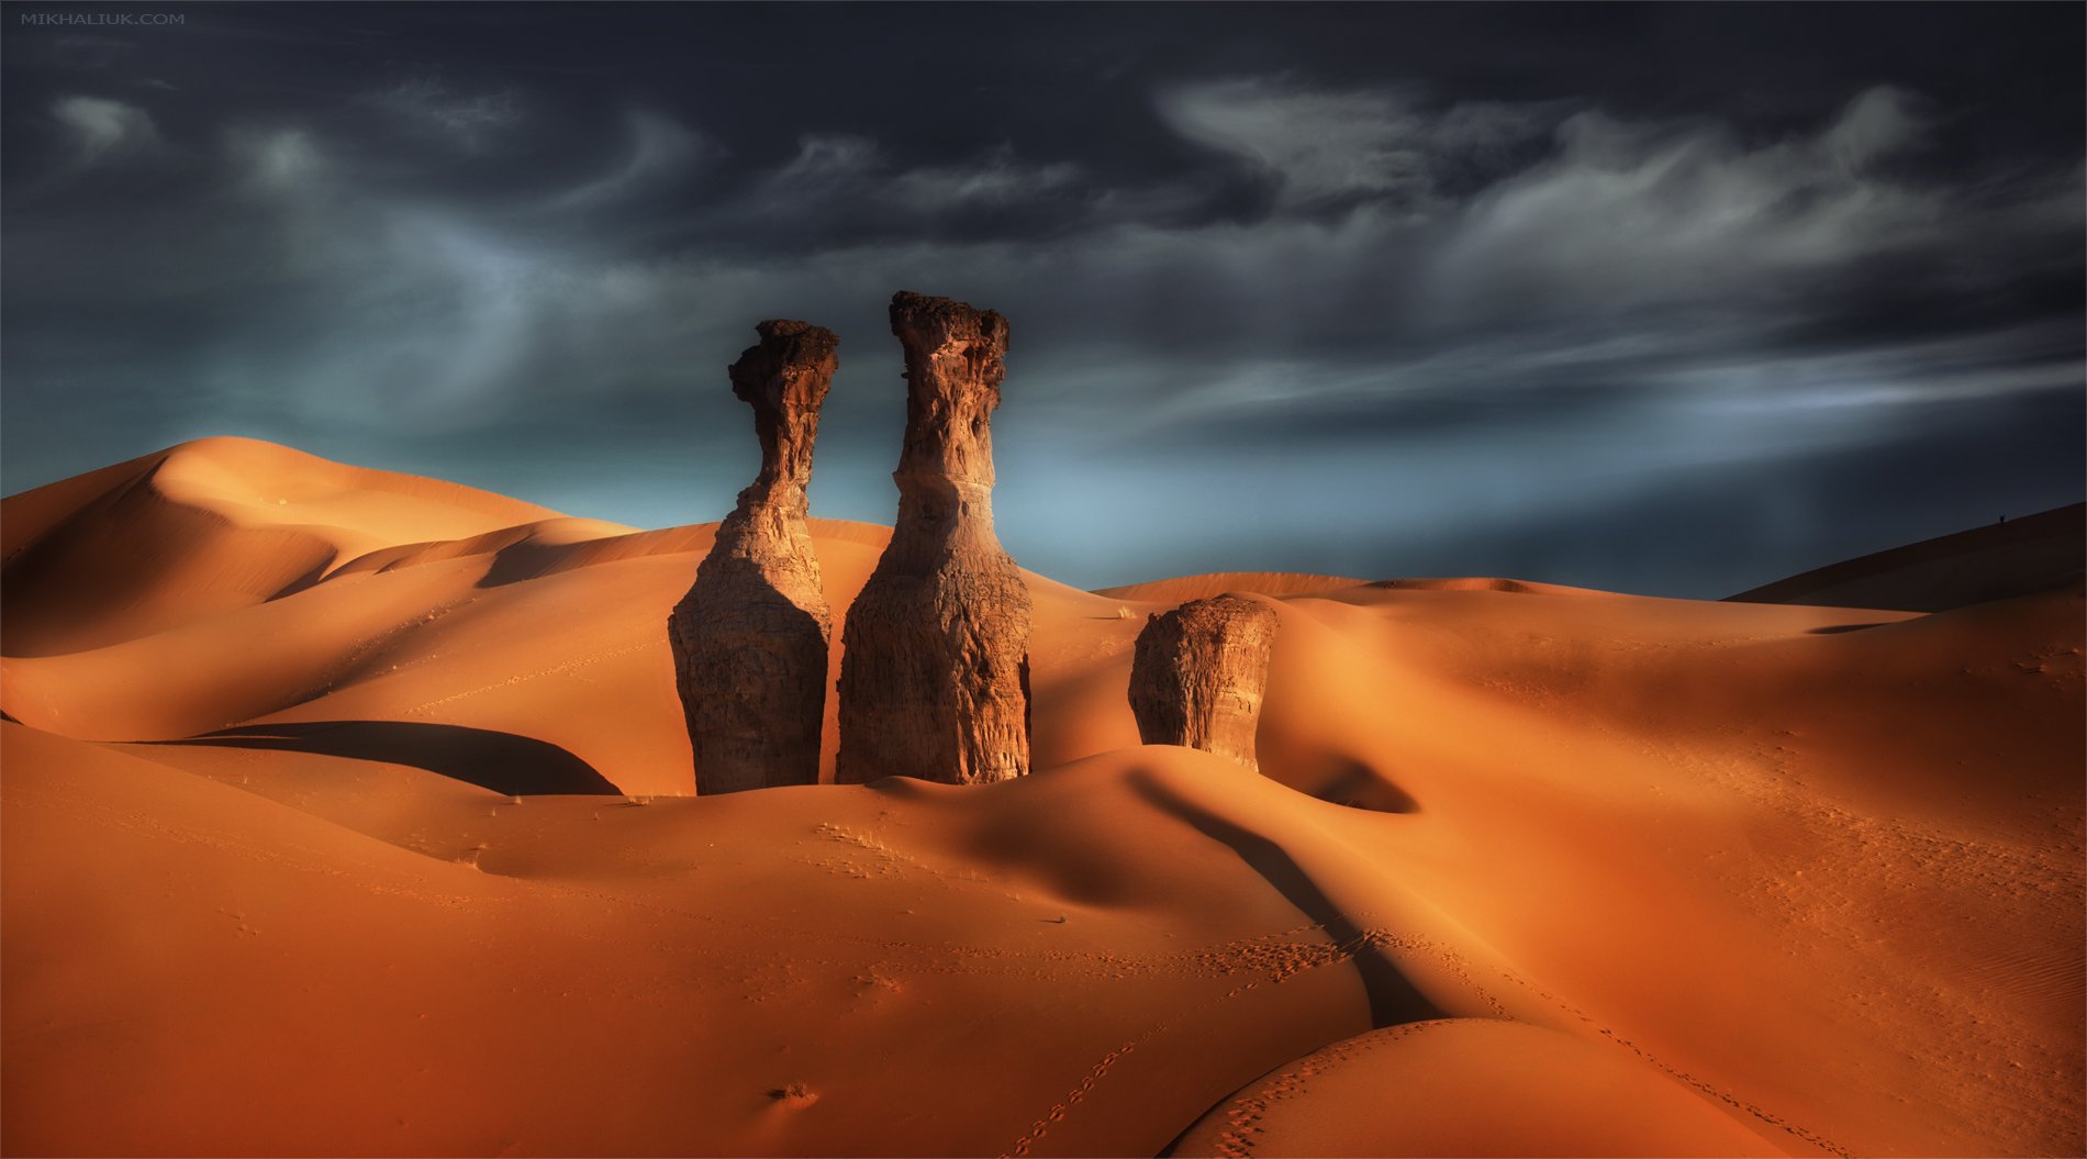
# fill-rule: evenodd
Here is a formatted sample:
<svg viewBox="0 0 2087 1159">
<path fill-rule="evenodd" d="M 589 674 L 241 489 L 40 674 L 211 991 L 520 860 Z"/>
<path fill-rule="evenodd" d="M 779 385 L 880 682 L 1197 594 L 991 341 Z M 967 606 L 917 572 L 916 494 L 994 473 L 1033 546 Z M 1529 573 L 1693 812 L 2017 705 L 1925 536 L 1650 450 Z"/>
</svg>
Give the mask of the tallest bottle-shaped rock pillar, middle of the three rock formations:
<svg viewBox="0 0 2087 1159">
<path fill-rule="evenodd" d="M 899 292 L 906 447 L 891 545 L 847 610 L 847 783 L 973 785 L 1029 773 L 1029 589 L 993 535 L 993 434 L 1008 322 Z"/>
</svg>

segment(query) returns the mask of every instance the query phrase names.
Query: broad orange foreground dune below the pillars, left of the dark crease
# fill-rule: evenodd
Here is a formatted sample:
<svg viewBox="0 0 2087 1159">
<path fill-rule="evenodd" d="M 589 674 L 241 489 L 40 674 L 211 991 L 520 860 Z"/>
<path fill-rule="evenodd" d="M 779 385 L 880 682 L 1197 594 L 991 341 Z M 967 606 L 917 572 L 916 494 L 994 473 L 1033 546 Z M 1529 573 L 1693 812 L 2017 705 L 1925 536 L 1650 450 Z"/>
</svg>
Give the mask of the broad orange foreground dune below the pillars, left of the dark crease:
<svg viewBox="0 0 2087 1159">
<path fill-rule="evenodd" d="M 10 1153 L 1156 1153 L 1369 1025 L 1377 950 L 1196 825 L 1309 846 L 1344 810 L 1185 750 L 983 794 L 401 781 L 369 837 L 317 777 L 294 808 L 4 729 Z"/>
</svg>

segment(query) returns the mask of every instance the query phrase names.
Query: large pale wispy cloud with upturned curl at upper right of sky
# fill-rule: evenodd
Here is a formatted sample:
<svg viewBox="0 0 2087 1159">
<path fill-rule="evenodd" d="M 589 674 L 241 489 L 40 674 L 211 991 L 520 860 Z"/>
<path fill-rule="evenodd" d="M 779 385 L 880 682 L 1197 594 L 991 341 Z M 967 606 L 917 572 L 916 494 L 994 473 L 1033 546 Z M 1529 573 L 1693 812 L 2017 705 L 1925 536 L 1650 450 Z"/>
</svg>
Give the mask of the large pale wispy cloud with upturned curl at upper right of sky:
<svg viewBox="0 0 2087 1159">
<path fill-rule="evenodd" d="M 1551 157 L 1463 207 L 1436 253 L 1438 301 L 1582 313 L 1738 299 L 1983 226 L 1953 213 L 1949 188 L 1885 169 L 1920 146 L 1910 109 L 1868 90 L 1814 134 L 1766 144 L 1716 121 L 1578 113 Z"/>
</svg>

